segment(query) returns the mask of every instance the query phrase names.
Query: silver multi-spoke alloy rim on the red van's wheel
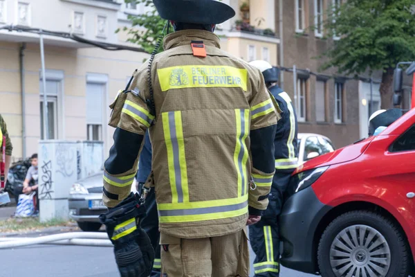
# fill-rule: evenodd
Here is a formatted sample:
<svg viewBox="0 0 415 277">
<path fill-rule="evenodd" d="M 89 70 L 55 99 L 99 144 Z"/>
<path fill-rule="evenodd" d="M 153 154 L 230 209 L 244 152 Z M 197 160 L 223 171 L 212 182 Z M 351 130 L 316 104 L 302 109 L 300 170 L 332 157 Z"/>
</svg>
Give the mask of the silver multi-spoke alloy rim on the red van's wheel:
<svg viewBox="0 0 415 277">
<path fill-rule="evenodd" d="M 336 277 L 385 277 L 391 265 L 391 251 L 378 230 L 353 225 L 333 240 L 330 264 Z"/>
</svg>

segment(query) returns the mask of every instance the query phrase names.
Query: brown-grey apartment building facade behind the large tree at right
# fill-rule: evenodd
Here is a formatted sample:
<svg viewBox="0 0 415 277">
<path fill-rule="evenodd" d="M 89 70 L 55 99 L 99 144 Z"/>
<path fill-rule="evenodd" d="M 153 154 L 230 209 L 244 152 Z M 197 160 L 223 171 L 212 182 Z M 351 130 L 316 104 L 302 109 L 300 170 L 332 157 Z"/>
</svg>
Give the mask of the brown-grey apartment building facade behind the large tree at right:
<svg viewBox="0 0 415 277">
<path fill-rule="evenodd" d="M 336 69 L 320 71 L 325 53 L 340 37 L 328 37 L 327 10 L 345 0 L 277 0 L 275 3 L 282 87 L 293 99 L 299 132 L 328 136 L 337 148 L 367 137 L 369 115 L 380 109 L 381 73 L 347 78 Z M 296 74 L 293 67 L 296 68 Z M 407 87 L 403 109 L 409 108 Z"/>
</svg>

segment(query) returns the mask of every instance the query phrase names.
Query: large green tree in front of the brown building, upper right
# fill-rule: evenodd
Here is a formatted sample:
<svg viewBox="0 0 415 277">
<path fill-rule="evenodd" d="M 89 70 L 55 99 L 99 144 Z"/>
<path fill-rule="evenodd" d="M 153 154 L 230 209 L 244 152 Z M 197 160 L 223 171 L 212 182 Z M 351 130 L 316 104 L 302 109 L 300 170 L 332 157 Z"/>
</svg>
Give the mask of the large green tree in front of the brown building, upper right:
<svg viewBox="0 0 415 277">
<path fill-rule="evenodd" d="M 394 67 L 415 59 L 414 0 L 348 0 L 328 10 L 327 35 L 341 37 L 322 68 L 357 75 L 382 70 L 381 108 L 392 107 Z"/>
</svg>

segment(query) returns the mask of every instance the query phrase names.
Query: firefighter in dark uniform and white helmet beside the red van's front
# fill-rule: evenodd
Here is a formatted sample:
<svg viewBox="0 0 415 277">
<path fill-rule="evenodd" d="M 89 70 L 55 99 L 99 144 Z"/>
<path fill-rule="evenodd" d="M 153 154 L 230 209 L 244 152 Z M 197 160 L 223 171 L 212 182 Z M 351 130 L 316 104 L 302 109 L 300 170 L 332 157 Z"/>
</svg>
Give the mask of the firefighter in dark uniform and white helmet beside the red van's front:
<svg viewBox="0 0 415 277">
<path fill-rule="evenodd" d="M 277 217 L 281 213 L 291 173 L 297 168 L 297 116 L 288 94 L 278 87 L 279 71 L 265 61 L 250 62 L 264 75 L 266 86 L 282 110 L 275 134 L 275 175 L 269 195 L 268 208 L 258 224 L 249 227 L 250 244 L 257 257 L 255 276 L 279 276 L 279 228 Z"/>
</svg>

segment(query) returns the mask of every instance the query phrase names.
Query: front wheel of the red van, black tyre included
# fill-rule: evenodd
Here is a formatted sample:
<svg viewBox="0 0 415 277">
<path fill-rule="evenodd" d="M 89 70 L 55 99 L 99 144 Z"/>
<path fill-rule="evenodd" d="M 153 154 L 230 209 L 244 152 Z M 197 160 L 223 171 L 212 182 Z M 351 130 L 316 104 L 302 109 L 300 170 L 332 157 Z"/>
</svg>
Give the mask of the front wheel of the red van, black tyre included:
<svg viewBox="0 0 415 277">
<path fill-rule="evenodd" d="M 408 258 L 398 226 L 370 211 L 337 217 L 324 231 L 317 250 L 322 277 L 406 277 Z"/>
</svg>

